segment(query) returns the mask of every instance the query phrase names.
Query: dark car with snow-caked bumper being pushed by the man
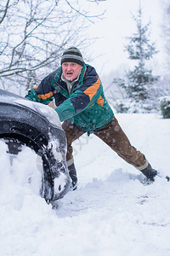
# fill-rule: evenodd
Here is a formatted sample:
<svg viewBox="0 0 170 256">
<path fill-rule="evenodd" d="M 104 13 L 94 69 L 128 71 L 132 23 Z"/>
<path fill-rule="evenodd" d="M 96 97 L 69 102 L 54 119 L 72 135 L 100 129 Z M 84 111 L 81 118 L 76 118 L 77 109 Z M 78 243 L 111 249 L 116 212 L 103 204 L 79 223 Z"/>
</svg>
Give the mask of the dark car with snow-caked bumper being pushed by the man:
<svg viewBox="0 0 170 256">
<path fill-rule="evenodd" d="M 0 139 L 8 145 L 8 154 L 19 154 L 26 145 L 41 157 L 40 195 L 45 201 L 58 201 L 67 194 L 71 179 L 65 158 L 65 131 L 53 108 L 0 90 Z"/>
</svg>

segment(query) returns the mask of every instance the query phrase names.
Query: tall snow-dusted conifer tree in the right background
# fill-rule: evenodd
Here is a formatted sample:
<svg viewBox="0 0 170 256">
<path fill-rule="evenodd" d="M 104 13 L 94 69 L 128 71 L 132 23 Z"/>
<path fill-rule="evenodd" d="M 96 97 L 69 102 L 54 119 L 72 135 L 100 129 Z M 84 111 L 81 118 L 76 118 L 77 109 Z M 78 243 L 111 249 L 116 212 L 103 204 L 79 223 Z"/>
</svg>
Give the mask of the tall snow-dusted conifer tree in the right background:
<svg viewBox="0 0 170 256">
<path fill-rule="evenodd" d="M 136 61 L 137 65 L 133 71 L 126 75 L 127 81 L 123 84 L 129 98 L 136 102 L 143 102 L 150 97 L 149 88 L 158 77 L 152 75 L 152 71 L 145 67 L 146 61 L 149 61 L 156 54 L 155 44 L 150 43 L 149 26 L 150 22 L 143 26 L 142 9 L 139 8 L 137 17 L 133 16 L 137 25 L 137 32 L 132 37 L 127 38 L 129 43 L 125 47 L 129 59 Z"/>
</svg>

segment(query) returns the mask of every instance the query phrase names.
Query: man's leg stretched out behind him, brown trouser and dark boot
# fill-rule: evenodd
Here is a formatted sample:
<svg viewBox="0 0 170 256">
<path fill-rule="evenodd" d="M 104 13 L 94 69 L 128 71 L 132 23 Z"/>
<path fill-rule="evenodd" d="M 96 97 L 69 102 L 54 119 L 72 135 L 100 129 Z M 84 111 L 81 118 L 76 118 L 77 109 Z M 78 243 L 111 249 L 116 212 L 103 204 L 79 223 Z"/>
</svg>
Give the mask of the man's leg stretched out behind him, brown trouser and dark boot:
<svg viewBox="0 0 170 256">
<path fill-rule="evenodd" d="M 152 170 L 144 154 L 131 145 L 115 117 L 108 125 L 94 132 L 94 134 L 109 145 L 123 160 L 135 166 L 139 171 L 143 172 L 146 177 L 154 180 L 157 172 Z"/>
</svg>

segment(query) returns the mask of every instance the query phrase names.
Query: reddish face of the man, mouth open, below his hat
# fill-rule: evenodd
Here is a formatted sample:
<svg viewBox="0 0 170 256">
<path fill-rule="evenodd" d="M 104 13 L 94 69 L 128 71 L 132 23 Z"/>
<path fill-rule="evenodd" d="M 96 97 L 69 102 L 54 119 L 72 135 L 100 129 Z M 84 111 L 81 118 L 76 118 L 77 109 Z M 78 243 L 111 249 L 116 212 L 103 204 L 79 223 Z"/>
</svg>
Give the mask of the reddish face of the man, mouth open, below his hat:
<svg viewBox="0 0 170 256">
<path fill-rule="evenodd" d="M 82 66 L 74 62 L 64 62 L 62 64 L 63 75 L 68 81 L 77 79 L 82 70 Z"/>
</svg>

